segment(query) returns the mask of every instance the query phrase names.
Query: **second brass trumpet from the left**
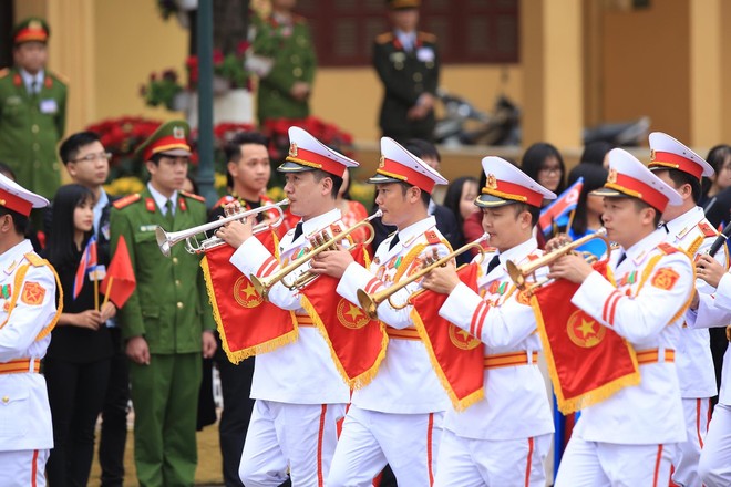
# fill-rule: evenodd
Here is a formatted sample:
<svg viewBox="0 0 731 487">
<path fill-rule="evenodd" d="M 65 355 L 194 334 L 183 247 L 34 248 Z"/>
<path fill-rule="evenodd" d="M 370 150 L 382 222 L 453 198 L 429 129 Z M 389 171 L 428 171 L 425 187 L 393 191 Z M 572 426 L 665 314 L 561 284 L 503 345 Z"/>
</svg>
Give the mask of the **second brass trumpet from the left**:
<svg viewBox="0 0 731 487">
<path fill-rule="evenodd" d="M 312 280 L 315 280 L 318 274 L 311 272 L 311 271 L 305 271 L 300 276 L 295 279 L 292 282 L 286 282 L 285 278 L 292 273 L 297 268 L 300 266 L 309 262 L 315 256 L 318 256 L 319 253 L 326 251 L 326 250 L 331 250 L 334 248 L 334 246 L 343 240 L 346 237 L 348 237 L 350 234 L 356 231 L 357 229 L 361 227 L 366 227 L 370 230 L 370 236 L 368 240 L 363 242 L 363 245 L 368 245 L 373 241 L 373 237 L 375 237 L 375 230 L 373 229 L 373 226 L 370 224 L 370 221 L 373 218 L 380 217 L 383 215 L 383 213 L 379 209 L 375 211 L 373 215 L 370 217 L 366 218 L 362 221 L 357 222 L 352 227 L 348 228 L 347 230 L 336 235 L 336 236 L 328 236 L 327 232 L 323 230 L 320 236 L 317 236 L 315 239 L 316 246 L 312 250 L 309 252 L 305 253 L 303 256 L 292 260 L 289 262 L 287 266 L 282 267 L 279 269 L 277 272 L 272 273 L 271 276 L 268 276 L 266 278 L 259 278 L 257 276 L 251 276 L 250 280 L 251 283 L 254 284 L 254 289 L 256 292 L 264 299 L 267 299 L 267 296 L 269 294 L 269 290 L 274 284 L 277 282 L 281 281 L 282 286 L 289 290 L 296 290 L 296 289 L 301 289 L 308 283 L 310 283 Z"/>
</svg>

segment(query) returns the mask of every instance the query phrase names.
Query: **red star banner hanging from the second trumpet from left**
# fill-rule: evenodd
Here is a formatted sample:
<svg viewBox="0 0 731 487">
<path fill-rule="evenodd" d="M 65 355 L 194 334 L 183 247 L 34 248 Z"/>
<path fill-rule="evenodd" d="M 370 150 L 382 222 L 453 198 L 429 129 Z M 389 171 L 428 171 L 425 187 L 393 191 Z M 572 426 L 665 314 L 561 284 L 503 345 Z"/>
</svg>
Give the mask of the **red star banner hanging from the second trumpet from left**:
<svg viewBox="0 0 731 487">
<path fill-rule="evenodd" d="M 362 245 L 349 249 L 361 266 L 370 266 Z M 302 308 L 325 336 L 336 367 L 350 388 L 368 385 L 385 356 L 385 327 L 337 292 L 338 279 L 320 276 L 302 289 Z"/>
</svg>

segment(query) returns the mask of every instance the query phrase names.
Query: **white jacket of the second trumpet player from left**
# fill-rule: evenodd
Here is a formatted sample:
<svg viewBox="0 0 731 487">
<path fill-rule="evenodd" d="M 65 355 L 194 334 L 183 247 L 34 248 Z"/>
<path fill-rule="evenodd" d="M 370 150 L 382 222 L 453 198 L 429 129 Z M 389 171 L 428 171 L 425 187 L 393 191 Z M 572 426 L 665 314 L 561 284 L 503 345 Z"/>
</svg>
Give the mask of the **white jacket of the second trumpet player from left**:
<svg viewBox="0 0 731 487">
<path fill-rule="evenodd" d="M 436 249 L 440 257 L 449 253 L 445 240 L 436 230 L 434 217 L 428 217 L 399 230 L 399 242 L 389 249 L 393 236 L 379 246 L 370 270 L 353 262 L 348 266 L 338 284 L 338 293 L 358 304 L 358 289 L 374 292 L 388 288 L 397 274 L 406 276 L 421 268 L 420 259 L 432 256 Z M 394 234 L 395 235 L 395 234 Z M 431 241 L 431 242 L 430 242 Z M 395 279 L 398 281 L 398 279 Z M 413 282 L 393 294 L 394 303 L 402 303 L 419 289 Z M 394 329 L 409 329 L 415 334 L 410 313 L 412 307 L 394 310 L 388 302 L 378 308 L 378 317 Z M 449 397 L 439 382 L 436 373 L 421 340 L 391 336 L 385 359 L 373 381 L 353 392 L 352 404 L 362 410 L 382 413 L 422 414 L 445 411 Z"/>
</svg>

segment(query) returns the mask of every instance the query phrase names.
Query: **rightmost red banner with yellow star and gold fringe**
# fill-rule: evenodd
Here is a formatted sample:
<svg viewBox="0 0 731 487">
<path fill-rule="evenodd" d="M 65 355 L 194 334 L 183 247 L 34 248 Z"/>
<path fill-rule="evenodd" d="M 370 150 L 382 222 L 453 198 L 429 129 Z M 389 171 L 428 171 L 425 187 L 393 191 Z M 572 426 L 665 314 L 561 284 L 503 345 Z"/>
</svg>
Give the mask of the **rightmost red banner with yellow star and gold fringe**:
<svg viewBox="0 0 731 487">
<path fill-rule="evenodd" d="M 614 282 L 607 261 L 594 269 Z M 558 408 L 569 414 L 640 382 L 632 346 L 614 330 L 576 308 L 578 284 L 560 279 L 531 298 Z"/>
</svg>

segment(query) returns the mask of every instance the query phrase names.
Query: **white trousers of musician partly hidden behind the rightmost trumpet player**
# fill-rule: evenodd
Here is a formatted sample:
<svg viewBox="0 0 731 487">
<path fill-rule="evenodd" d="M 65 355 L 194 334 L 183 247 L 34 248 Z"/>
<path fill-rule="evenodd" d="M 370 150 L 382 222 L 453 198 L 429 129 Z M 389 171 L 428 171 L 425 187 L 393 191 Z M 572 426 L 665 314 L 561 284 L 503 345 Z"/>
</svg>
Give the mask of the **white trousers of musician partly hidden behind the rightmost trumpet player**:
<svg viewBox="0 0 731 487">
<path fill-rule="evenodd" d="M 708 432 L 710 397 L 683 398 L 688 441 L 678 444 L 672 481 L 680 487 L 701 487 L 698 460 Z"/>
</svg>

